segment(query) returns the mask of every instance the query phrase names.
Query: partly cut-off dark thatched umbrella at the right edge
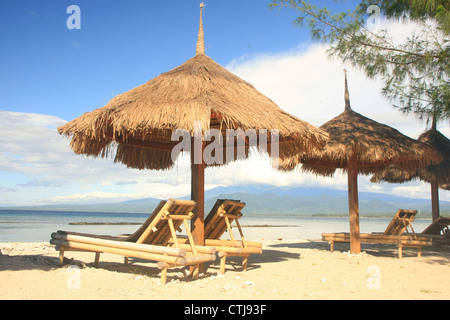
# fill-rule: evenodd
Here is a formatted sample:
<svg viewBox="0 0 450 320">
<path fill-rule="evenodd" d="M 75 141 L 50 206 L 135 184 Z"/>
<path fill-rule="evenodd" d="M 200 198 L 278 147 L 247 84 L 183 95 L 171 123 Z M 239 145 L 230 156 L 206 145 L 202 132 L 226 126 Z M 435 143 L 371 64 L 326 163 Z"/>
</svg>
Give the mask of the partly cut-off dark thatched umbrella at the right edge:
<svg viewBox="0 0 450 320">
<path fill-rule="evenodd" d="M 436 129 L 436 118 L 430 130 L 422 133 L 417 139 L 432 146 L 442 157 L 438 164 L 429 165 L 419 170 L 402 170 L 397 165 L 391 165 L 381 172 L 375 173 L 372 182 L 387 181 L 403 183 L 420 179 L 431 185 L 431 212 L 433 221 L 439 218 L 439 188 L 449 190 L 450 183 L 450 140 Z"/>
</svg>

